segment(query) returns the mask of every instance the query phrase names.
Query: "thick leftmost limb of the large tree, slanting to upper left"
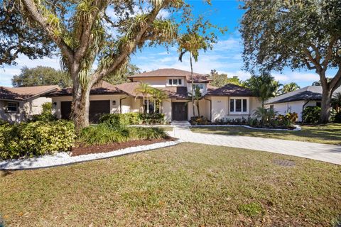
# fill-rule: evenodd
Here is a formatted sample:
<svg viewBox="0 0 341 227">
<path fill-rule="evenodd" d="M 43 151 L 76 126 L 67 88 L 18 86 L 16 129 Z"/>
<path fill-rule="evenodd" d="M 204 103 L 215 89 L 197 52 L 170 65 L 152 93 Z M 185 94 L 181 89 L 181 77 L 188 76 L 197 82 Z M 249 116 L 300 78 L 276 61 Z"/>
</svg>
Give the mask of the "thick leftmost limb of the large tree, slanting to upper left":
<svg viewBox="0 0 341 227">
<path fill-rule="evenodd" d="M 25 9 L 30 13 L 31 18 L 36 21 L 37 23 L 42 26 L 42 28 L 45 28 L 45 31 L 48 33 L 48 36 L 55 41 L 55 43 L 58 45 L 60 50 L 63 52 L 63 54 L 67 57 L 69 61 L 73 60 L 74 54 L 72 49 L 65 43 L 63 38 L 60 38 L 60 36 L 56 36 L 53 33 L 53 30 L 55 29 L 53 26 L 51 26 L 47 19 L 38 11 L 36 4 L 33 0 L 22 0 L 23 6 Z"/>
</svg>

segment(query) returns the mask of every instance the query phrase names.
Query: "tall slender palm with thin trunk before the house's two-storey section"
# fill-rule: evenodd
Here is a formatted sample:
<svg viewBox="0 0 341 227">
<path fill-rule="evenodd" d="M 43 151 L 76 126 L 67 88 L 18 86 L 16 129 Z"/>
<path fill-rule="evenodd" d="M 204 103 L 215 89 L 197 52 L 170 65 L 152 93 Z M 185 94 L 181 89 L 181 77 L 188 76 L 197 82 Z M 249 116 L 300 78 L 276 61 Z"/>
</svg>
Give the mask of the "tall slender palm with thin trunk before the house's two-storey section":
<svg viewBox="0 0 341 227">
<path fill-rule="evenodd" d="M 192 58 L 194 58 L 195 62 L 197 62 L 197 57 L 199 56 L 199 50 L 206 51 L 207 48 L 210 47 L 210 45 L 207 43 L 207 40 L 205 40 L 204 37 L 202 37 L 201 35 L 198 35 L 197 33 L 187 33 L 185 35 L 182 35 L 179 38 L 178 43 L 179 43 L 178 52 L 180 53 L 179 54 L 180 62 L 183 61 L 183 55 L 185 55 L 186 52 L 190 53 L 190 77 L 192 80 L 191 94 L 195 94 Z M 193 115 L 194 115 L 195 113 L 194 96 L 192 96 L 192 108 L 193 108 Z"/>
</svg>

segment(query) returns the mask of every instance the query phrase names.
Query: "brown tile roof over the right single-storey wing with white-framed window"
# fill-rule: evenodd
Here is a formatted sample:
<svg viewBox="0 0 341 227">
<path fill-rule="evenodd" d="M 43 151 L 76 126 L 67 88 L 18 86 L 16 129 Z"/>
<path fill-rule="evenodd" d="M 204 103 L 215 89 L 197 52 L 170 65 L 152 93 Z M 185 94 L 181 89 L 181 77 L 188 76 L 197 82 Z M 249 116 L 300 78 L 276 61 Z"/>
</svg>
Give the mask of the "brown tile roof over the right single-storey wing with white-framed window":
<svg viewBox="0 0 341 227">
<path fill-rule="evenodd" d="M 223 87 L 208 87 L 205 96 L 254 96 L 254 94 L 247 87 L 226 84 Z"/>
</svg>

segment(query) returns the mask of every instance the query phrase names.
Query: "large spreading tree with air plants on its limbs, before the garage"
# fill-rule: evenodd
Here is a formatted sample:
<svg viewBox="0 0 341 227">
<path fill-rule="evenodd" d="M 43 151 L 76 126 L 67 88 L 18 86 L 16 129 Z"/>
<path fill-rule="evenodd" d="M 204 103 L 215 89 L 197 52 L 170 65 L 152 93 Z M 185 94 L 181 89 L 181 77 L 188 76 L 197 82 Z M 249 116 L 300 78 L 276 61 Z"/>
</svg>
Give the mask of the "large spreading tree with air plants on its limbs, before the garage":
<svg viewBox="0 0 341 227">
<path fill-rule="evenodd" d="M 173 43 L 192 15 L 182 0 L 20 2 L 26 24 L 40 28 L 60 50 L 63 69 L 72 78 L 71 117 L 77 132 L 89 125 L 92 85 L 118 72 L 145 44 Z M 158 16 L 160 11 L 180 11 L 183 18 L 175 23 Z"/>
</svg>

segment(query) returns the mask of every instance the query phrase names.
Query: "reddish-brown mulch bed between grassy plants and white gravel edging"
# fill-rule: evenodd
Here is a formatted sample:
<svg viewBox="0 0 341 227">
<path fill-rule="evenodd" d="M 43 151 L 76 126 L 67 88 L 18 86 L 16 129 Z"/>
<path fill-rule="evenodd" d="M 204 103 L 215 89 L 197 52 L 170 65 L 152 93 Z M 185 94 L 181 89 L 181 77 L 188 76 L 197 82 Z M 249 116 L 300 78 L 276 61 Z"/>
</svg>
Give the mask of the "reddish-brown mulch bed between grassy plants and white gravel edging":
<svg viewBox="0 0 341 227">
<path fill-rule="evenodd" d="M 88 155 L 95 153 L 107 153 L 114 150 L 121 150 L 124 148 L 136 147 L 141 145 L 150 145 L 153 143 L 163 143 L 168 141 L 175 141 L 177 139 L 173 137 L 160 138 L 160 139 L 152 139 L 152 140 L 131 140 L 124 143 L 109 143 L 104 145 L 90 145 L 85 146 L 82 144 L 77 145 L 77 147 L 72 148 L 71 156 L 78 155 Z"/>
</svg>

